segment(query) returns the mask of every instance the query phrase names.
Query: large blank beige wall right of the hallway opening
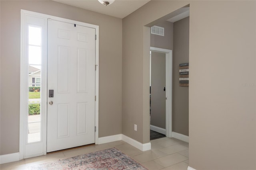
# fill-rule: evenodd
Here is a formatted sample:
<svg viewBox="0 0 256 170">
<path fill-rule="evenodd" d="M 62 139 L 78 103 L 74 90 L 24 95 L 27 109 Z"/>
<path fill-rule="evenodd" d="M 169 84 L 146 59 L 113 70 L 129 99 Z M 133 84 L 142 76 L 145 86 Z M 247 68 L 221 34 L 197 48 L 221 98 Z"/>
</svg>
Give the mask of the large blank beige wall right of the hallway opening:
<svg viewBox="0 0 256 170">
<path fill-rule="evenodd" d="M 190 6 L 190 166 L 196 169 L 256 169 L 255 3 Z"/>
</svg>

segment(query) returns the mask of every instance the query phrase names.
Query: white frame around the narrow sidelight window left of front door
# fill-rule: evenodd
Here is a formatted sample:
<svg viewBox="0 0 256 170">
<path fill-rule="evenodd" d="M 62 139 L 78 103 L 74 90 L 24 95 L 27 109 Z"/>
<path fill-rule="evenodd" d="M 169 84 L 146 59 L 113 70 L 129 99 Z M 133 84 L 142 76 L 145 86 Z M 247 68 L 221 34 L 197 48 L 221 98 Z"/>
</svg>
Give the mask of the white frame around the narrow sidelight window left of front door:
<svg viewBox="0 0 256 170">
<path fill-rule="evenodd" d="M 32 14 L 33 13 L 33 14 Z M 29 19 L 30 18 L 30 19 Z M 31 18 L 37 18 L 31 19 Z M 33 20 L 31 22 L 31 20 Z M 28 57 L 26 49 L 26 36 L 28 34 L 27 24 L 38 25 L 42 28 L 42 77 L 41 77 L 41 141 L 27 143 L 28 139 Z M 21 10 L 21 32 L 20 32 L 20 160 L 31 157 L 30 155 L 40 156 L 46 154 L 46 96 L 47 96 L 47 18 L 42 14 Z M 27 152 L 27 148 L 37 148 L 37 151 Z"/>
</svg>

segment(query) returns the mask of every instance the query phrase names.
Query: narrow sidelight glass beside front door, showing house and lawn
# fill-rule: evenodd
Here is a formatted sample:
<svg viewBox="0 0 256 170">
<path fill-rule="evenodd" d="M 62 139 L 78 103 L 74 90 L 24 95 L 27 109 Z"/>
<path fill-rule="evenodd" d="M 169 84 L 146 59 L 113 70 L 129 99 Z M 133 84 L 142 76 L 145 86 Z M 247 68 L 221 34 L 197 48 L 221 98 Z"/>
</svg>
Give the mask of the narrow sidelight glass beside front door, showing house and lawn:
<svg viewBox="0 0 256 170">
<path fill-rule="evenodd" d="M 41 141 L 42 28 L 28 26 L 28 143 Z"/>
</svg>

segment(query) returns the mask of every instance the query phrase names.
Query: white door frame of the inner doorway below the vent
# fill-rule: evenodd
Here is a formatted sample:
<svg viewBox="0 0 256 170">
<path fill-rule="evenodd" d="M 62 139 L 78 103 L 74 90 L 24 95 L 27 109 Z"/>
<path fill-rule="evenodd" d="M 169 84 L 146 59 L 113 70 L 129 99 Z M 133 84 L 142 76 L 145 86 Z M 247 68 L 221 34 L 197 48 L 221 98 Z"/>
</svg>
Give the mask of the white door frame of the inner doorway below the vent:
<svg viewBox="0 0 256 170">
<path fill-rule="evenodd" d="M 172 50 L 150 47 L 150 51 L 165 53 L 166 76 L 166 137 L 172 137 Z"/>
</svg>

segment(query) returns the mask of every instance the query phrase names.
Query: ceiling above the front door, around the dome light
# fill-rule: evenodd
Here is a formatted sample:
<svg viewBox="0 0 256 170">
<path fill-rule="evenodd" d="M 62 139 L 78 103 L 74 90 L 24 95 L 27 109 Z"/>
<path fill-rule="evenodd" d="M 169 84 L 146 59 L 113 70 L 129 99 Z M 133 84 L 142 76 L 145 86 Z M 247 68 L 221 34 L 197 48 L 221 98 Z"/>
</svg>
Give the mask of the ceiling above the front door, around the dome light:
<svg viewBox="0 0 256 170">
<path fill-rule="evenodd" d="M 150 0 L 115 0 L 113 4 L 108 6 L 100 4 L 98 0 L 54 1 L 122 19 L 148 3 Z"/>
</svg>

